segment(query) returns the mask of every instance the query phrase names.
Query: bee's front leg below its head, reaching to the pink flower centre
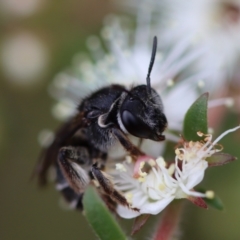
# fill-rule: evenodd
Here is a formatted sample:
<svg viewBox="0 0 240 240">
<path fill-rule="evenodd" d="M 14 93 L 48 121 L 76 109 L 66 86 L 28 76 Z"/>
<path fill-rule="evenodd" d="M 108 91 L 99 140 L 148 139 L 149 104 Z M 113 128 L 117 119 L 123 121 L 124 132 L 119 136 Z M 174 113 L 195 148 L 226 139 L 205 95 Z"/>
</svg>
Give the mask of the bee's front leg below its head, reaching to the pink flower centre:
<svg viewBox="0 0 240 240">
<path fill-rule="evenodd" d="M 122 144 L 122 146 L 133 156 L 133 157 L 139 157 L 146 155 L 144 152 L 142 152 L 139 148 L 137 148 L 135 145 L 131 143 L 131 141 L 128 139 L 128 137 L 119 129 L 113 128 L 112 129 L 113 134 L 115 137 L 119 140 L 119 142 Z"/>
</svg>

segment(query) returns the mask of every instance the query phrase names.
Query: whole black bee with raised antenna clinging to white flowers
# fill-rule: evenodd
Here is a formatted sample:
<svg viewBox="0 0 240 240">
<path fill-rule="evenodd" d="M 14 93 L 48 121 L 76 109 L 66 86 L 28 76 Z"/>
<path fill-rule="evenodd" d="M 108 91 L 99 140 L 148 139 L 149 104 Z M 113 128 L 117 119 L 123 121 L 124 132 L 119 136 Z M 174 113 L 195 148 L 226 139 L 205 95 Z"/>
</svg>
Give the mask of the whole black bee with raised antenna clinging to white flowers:
<svg viewBox="0 0 240 240">
<path fill-rule="evenodd" d="M 110 208 L 115 201 L 129 206 L 103 171 L 108 148 L 115 141 L 136 159 L 145 154 L 131 143 L 128 135 L 154 141 L 165 139 L 162 133 L 167 119 L 163 104 L 150 84 L 156 50 L 157 38 L 154 37 L 146 85 L 131 90 L 122 85 L 110 85 L 80 103 L 76 116 L 59 129 L 53 143 L 42 154 L 37 168 L 40 185 L 46 183 L 48 169 L 54 165 L 57 189 L 72 206 L 82 209 L 81 199 L 91 180 L 99 184 Z"/>
</svg>

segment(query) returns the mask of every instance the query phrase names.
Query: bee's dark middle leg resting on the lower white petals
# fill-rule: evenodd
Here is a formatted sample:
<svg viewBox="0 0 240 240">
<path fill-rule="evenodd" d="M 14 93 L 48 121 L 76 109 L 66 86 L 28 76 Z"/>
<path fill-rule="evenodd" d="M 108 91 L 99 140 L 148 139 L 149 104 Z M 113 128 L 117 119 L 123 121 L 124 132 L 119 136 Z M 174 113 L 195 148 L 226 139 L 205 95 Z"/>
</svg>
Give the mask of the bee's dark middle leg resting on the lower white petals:
<svg viewBox="0 0 240 240">
<path fill-rule="evenodd" d="M 92 174 L 94 178 L 98 181 L 104 192 L 112 198 L 114 201 L 118 202 L 119 204 L 129 207 L 130 205 L 127 202 L 127 199 L 116 189 L 114 189 L 113 183 L 110 179 L 107 178 L 106 174 L 104 174 L 98 167 L 97 164 L 92 165 Z M 138 209 L 133 209 L 138 211 Z"/>
</svg>

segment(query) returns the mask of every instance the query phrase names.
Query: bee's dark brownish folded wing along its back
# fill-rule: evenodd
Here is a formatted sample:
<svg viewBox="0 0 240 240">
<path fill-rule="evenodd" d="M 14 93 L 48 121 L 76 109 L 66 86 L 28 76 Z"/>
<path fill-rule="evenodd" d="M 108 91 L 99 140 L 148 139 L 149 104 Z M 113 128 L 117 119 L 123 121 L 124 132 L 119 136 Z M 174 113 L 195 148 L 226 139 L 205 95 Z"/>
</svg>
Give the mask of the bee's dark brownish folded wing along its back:
<svg viewBox="0 0 240 240">
<path fill-rule="evenodd" d="M 38 183 L 43 186 L 47 183 L 47 172 L 49 167 L 57 161 L 59 149 L 67 144 L 77 130 L 86 126 L 83 113 L 79 113 L 76 117 L 68 120 L 55 134 L 52 144 L 44 149 L 40 155 L 33 175 L 38 176 Z"/>
</svg>

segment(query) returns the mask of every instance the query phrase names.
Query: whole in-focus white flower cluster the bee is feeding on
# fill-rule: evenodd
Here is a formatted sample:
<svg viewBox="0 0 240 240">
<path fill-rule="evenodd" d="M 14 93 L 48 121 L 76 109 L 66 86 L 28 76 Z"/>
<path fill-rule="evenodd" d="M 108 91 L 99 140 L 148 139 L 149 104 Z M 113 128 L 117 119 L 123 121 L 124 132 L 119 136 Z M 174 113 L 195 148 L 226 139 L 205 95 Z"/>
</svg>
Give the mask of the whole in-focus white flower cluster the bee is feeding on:
<svg viewBox="0 0 240 240">
<path fill-rule="evenodd" d="M 141 214 L 158 214 L 173 199 L 192 197 L 213 198 L 214 193 L 194 191 L 204 178 L 208 167 L 206 158 L 221 149 L 216 148 L 218 141 L 226 134 L 236 131 L 236 127 L 225 131 L 215 141 L 212 135 L 198 133 L 204 137 L 200 142 L 183 142 L 183 146 L 175 150 L 175 162 L 167 166 L 162 157 L 156 161 L 149 157 L 141 157 L 135 163 L 124 162 L 126 171 L 113 173 L 115 187 L 122 191 L 129 204 L 138 208 L 139 212 L 118 205 L 117 212 L 123 218 L 134 218 Z M 117 169 L 120 169 L 119 166 Z"/>
</svg>

